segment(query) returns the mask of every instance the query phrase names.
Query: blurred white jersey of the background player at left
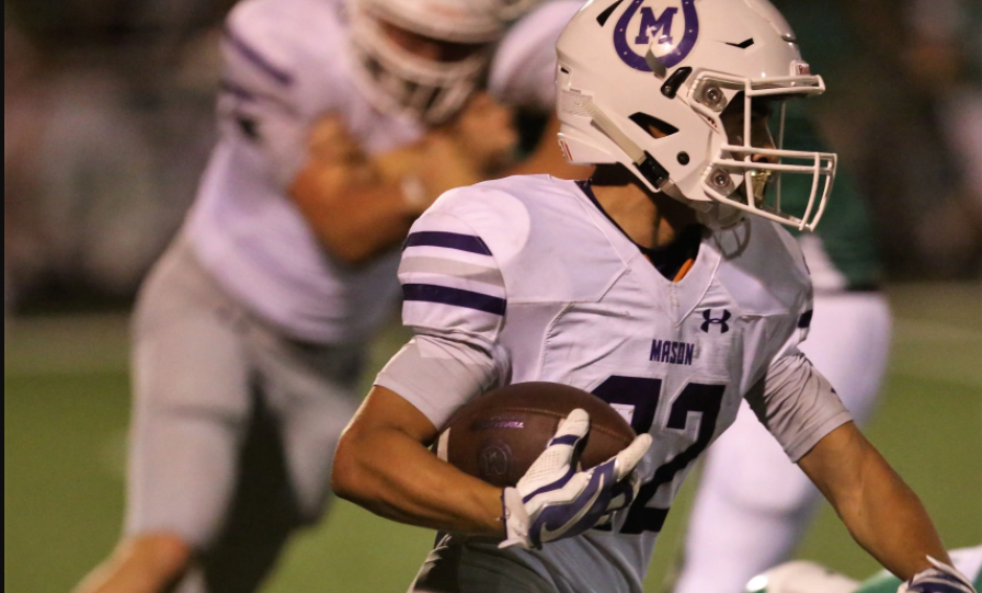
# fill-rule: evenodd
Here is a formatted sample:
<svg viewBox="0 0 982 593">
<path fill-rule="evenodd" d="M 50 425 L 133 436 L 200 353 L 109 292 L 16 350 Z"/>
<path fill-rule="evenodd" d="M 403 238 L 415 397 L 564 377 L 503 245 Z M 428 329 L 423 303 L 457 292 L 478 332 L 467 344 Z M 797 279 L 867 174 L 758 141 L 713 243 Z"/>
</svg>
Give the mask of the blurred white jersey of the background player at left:
<svg viewBox="0 0 982 593">
<path fill-rule="evenodd" d="M 310 126 L 340 115 L 368 155 L 414 142 L 425 132 L 375 110 L 355 87 L 343 5 L 247 0 L 232 10 L 221 46 L 219 141 L 185 227 L 202 263 L 229 293 L 290 334 L 327 343 L 363 340 L 387 315 L 399 293 L 399 254 L 355 270 L 318 243 L 286 195 L 304 164 Z M 550 22 L 548 35 L 537 32 L 535 43 L 510 49 L 509 59 L 555 60 L 564 24 Z M 495 94 L 541 95 L 552 85 L 553 68 L 540 70 L 544 80 L 514 68 L 498 75 L 495 88 L 505 90 Z"/>
</svg>

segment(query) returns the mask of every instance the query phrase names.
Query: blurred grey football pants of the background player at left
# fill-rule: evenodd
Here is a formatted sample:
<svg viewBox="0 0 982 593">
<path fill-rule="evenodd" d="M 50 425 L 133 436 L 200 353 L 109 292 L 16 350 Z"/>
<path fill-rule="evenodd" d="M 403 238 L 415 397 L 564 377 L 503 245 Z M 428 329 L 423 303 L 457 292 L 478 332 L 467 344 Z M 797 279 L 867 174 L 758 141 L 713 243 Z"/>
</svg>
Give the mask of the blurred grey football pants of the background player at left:
<svg viewBox="0 0 982 593">
<path fill-rule="evenodd" d="M 134 320 L 127 535 L 197 551 L 180 593 L 254 591 L 328 500 L 361 344 L 292 340 L 229 297 L 178 239 Z"/>
</svg>

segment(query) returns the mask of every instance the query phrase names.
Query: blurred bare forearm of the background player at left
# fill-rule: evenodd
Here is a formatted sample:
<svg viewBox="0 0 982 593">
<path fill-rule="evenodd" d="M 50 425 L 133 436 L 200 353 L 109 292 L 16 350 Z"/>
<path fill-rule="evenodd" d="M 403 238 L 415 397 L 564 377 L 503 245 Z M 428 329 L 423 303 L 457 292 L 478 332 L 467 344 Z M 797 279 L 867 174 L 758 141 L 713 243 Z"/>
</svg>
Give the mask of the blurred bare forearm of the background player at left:
<svg viewBox="0 0 982 593">
<path fill-rule="evenodd" d="M 294 202 L 331 255 L 358 265 L 406 239 L 420 208 L 398 185 L 338 178 L 330 170 L 308 170 L 290 187 Z"/>
</svg>

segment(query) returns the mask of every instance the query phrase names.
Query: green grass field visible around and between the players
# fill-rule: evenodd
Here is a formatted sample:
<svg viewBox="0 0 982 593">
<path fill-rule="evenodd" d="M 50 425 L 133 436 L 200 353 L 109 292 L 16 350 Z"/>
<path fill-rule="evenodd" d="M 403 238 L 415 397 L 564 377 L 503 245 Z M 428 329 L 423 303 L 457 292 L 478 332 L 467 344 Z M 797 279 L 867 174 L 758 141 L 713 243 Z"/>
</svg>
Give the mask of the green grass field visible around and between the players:
<svg viewBox="0 0 982 593">
<path fill-rule="evenodd" d="M 867 431 L 933 514 L 947 545 L 982 543 L 982 286 L 890 289 L 897 316 L 884 399 Z M 398 347 L 375 344 L 380 364 Z M 66 592 L 119 531 L 128 414 L 125 317 L 16 320 L 4 340 L 4 589 Z M 655 550 L 660 591 L 695 481 Z M 296 538 L 264 591 L 402 592 L 432 533 L 338 502 Z M 876 565 L 827 508 L 799 550 L 853 575 Z"/>
</svg>

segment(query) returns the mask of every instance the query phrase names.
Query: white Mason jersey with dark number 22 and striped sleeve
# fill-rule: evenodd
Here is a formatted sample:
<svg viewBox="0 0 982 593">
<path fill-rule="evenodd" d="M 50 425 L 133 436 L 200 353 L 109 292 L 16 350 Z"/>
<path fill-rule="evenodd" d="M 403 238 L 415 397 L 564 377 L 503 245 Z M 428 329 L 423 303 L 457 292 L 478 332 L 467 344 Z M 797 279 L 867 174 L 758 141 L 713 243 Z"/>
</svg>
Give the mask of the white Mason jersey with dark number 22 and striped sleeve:
<svg viewBox="0 0 982 593">
<path fill-rule="evenodd" d="M 467 544 L 525 563 L 558 591 L 641 591 L 683 479 L 744 397 L 795 460 L 849 420 L 796 347 L 811 316 L 797 243 L 762 218 L 704 231 L 690 271 L 671 282 L 576 182 L 509 178 L 444 194 L 413 226 L 399 278 L 403 319 L 416 341 L 486 353 L 480 390 L 571 385 L 653 436 L 638 466 L 638 500 L 613 529 L 540 551 Z M 422 358 L 450 351 L 421 349 Z M 441 364 L 439 373 L 452 374 Z M 436 426 L 478 395 L 422 385 L 412 373 L 393 360 L 376 383 Z M 772 385 L 757 394 L 765 383 Z"/>
</svg>

